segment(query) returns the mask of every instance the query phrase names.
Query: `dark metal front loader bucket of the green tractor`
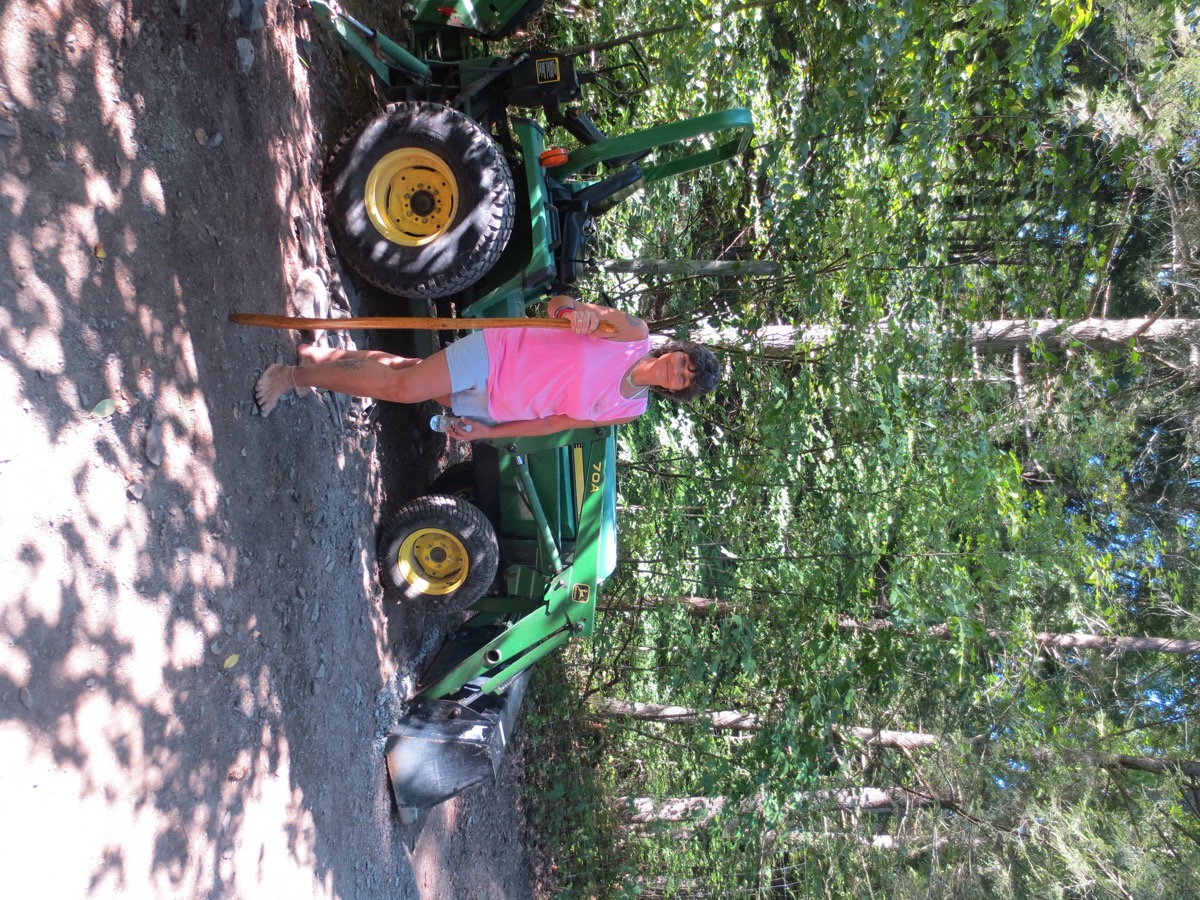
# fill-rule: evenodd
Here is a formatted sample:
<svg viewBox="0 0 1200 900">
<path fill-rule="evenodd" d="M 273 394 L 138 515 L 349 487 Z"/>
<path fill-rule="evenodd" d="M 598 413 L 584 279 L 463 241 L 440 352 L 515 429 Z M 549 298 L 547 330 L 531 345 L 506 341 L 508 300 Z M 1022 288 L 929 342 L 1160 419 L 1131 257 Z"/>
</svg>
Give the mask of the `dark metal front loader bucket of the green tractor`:
<svg viewBox="0 0 1200 900">
<path fill-rule="evenodd" d="M 388 736 L 384 754 L 396 805 L 409 821 L 468 787 L 494 779 L 530 670 L 470 706 L 418 697 Z"/>
</svg>

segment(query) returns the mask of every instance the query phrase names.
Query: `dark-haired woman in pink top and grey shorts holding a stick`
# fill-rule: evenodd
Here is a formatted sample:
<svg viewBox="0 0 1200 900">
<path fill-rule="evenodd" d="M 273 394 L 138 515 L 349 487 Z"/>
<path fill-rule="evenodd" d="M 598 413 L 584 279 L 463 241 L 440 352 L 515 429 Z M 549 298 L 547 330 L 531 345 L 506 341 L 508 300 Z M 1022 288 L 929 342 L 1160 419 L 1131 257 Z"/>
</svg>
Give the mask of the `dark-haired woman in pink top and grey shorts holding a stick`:
<svg viewBox="0 0 1200 900">
<path fill-rule="evenodd" d="M 650 390 L 691 400 L 716 385 L 716 358 L 706 347 L 653 350 L 641 319 L 564 295 L 551 298 L 547 311 L 569 319 L 570 330 L 487 329 L 424 360 L 301 344 L 299 365 L 268 366 L 254 398 L 263 415 L 286 391 L 304 388 L 395 403 L 436 400 L 460 416 L 452 438 L 479 440 L 623 425 L 646 412 Z M 599 332 L 600 323 L 611 330 Z"/>
</svg>

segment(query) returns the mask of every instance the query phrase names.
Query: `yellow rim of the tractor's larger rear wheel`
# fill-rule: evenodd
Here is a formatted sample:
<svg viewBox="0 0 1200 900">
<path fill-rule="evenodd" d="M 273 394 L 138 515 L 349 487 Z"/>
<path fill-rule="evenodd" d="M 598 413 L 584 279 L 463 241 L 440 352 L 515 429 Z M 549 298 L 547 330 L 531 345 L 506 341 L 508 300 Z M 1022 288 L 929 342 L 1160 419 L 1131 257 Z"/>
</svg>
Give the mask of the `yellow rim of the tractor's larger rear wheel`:
<svg viewBox="0 0 1200 900">
<path fill-rule="evenodd" d="M 428 150 L 392 150 L 367 175 L 364 203 L 379 234 L 392 244 L 420 247 L 436 241 L 454 222 L 458 182 Z"/>
</svg>

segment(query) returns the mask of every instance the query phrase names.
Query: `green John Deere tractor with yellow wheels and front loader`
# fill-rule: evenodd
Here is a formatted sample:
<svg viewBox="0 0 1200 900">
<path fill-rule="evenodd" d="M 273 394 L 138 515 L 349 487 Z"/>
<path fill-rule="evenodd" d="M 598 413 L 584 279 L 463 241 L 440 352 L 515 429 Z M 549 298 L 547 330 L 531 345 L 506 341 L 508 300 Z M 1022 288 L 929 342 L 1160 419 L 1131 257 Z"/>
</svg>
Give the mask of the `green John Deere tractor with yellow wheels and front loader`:
<svg viewBox="0 0 1200 900">
<path fill-rule="evenodd" d="M 404 49 L 336 2 L 311 0 L 386 101 L 326 164 L 334 242 L 365 281 L 419 301 L 419 313 L 434 301 L 467 320 L 526 316 L 580 277 L 596 217 L 750 142 L 745 109 L 607 137 L 572 106 L 587 84 L 619 100 L 604 71 L 551 50 L 486 52 L 541 0 L 439 4 L 404 5 Z M 547 149 L 534 110 L 578 146 Z M 406 817 L 492 778 L 530 667 L 592 634 L 598 588 L 617 563 L 616 430 L 476 442 L 470 468 L 432 490 L 382 529 L 380 577 L 391 596 L 472 616 L 386 743 Z"/>
</svg>

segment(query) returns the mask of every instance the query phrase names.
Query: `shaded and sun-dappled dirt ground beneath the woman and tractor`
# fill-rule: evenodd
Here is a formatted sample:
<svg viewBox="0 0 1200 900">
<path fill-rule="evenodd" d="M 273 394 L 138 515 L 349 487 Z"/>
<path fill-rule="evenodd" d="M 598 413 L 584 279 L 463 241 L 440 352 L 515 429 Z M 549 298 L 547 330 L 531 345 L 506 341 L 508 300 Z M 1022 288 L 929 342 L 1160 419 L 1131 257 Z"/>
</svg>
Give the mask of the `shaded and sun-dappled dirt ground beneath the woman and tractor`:
<svg viewBox="0 0 1200 900">
<path fill-rule="evenodd" d="M 260 419 L 257 372 L 298 336 L 227 322 L 311 312 L 330 276 L 342 296 L 319 166 L 370 92 L 310 29 L 290 0 L 4 4 L 10 896 L 540 893 L 518 752 L 415 826 L 386 782 L 454 624 L 374 574 L 380 511 L 446 463 L 432 410 Z"/>
</svg>

